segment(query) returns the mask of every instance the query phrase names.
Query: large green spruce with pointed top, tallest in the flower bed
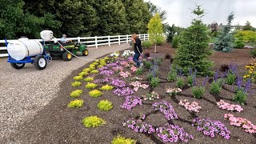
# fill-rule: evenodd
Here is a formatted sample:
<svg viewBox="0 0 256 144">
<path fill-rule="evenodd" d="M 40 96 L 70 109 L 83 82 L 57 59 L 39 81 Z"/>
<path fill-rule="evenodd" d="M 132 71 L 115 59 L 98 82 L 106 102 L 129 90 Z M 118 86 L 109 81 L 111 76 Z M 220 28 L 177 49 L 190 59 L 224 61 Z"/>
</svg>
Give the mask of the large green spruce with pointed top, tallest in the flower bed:
<svg viewBox="0 0 256 144">
<path fill-rule="evenodd" d="M 213 63 L 208 58 L 212 54 L 208 46 L 210 37 L 201 20 L 204 10 L 197 6 L 193 13 L 197 18 L 194 18 L 192 26 L 182 32 L 173 66 L 177 66 L 184 74 L 188 74 L 192 68 L 198 70 L 198 75 L 209 75 L 212 74 L 210 67 Z"/>
</svg>

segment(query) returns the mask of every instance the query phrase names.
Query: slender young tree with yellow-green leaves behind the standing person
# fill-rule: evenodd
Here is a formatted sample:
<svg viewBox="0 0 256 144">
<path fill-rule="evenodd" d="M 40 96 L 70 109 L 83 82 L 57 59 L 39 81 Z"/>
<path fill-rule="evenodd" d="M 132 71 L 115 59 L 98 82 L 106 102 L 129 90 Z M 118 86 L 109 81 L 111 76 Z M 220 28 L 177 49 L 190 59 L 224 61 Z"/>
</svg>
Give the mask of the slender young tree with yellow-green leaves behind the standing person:
<svg viewBox="0 0 256 144">
<path fill-rule="evenodd" d="M 157 13 L 153 18 L 150 19 L 149 24 L 147 25 L 148 34 L 150 34 L 150 41 L 154 43 L 154 53 L 157 52 L 157 41 L 158 39 L 163 38 L 163 27 L 162 20 L 160 15 Z"/>
</svg>

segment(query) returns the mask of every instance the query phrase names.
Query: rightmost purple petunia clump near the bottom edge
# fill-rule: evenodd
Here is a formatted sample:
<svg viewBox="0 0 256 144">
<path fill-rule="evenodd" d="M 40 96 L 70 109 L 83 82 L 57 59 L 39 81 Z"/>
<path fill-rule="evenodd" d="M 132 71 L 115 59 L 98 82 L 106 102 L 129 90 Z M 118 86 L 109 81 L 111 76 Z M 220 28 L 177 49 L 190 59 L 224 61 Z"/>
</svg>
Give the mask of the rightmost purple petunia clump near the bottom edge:
<svg viewBox="0 0 256 144">
<path fill-rule="evenodd" d="M 198 131 L 214 138 L 216 135 L 221 135 L 226 139 L 230 139 L 230 130 L 219 121 L 211 120 L 210 118 L 194 118 L 192 126 L 196 126 Z"/>
</svg>

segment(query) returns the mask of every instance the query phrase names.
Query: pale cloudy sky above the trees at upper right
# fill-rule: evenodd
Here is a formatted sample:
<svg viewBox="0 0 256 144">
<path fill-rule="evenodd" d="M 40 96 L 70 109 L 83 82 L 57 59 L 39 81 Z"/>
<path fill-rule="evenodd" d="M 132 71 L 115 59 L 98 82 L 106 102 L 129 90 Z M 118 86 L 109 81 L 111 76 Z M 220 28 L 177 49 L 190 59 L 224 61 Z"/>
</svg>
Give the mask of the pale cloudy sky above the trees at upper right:
<svg viewBox="0 0 256 144">
<path fill-rule="evenodd" d="M 206 10 L 202 21 L 206 24 L 218 22 L 226 24 L 227 16 L 234 11 L 233 25 L 243 26 L 249 21 L 256 27 L 256 0 L 144 0 L 160 6 L 166 10 L 167 19 L 170 25 L 190 26 L 193 14 L 190 9 L 194 9 L 195 4 L 201 5 Z"/>
</svg>

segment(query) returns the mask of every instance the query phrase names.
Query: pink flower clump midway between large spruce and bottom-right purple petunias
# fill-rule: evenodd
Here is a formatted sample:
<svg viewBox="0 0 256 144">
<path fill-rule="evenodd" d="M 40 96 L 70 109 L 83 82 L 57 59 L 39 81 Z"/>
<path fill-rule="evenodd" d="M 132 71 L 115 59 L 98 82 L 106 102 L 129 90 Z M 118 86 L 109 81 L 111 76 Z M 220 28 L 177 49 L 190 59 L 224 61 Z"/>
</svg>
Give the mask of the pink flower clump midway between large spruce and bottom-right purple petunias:
<svg viewBox="0 0 256 144">
<path fill-rule="evenodd" d="M 190 112 L 195 112 L 198 113 L 199 110 L 202 108 L 201 106 L 199 106 L 198 102 L 189 102 L 187 99 L 181 99 L 178 102 L 179 106 L 183 106 L 185 107 L 186 110 L 189 110 Z"/>
</svg>

